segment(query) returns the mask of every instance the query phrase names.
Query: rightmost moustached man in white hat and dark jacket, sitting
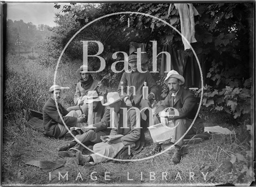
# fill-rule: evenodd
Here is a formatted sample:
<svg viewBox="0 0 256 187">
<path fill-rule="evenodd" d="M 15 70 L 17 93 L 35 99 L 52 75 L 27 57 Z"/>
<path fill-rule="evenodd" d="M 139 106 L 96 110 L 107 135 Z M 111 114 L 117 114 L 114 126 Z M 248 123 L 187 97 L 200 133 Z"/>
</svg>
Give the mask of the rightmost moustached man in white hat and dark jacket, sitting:
<svg viewBox="0 0 256 187">
<path fill-rule="evenodd" d="M 198 109 L 194 94 L 181 87 L 184 82 L 184 77 L 175 70 L 168 72 L 164 83 L 169 87 L 169 94 L 164 99 L 164 102 L 156 108 L 156 116 L 154 117 L 154 124 L 162 123 L 167 125 L 168 121 L 172 120 L 176 126 L 174 128 L 174 135 L 170 141 L 170 143 L 176 143 L 175 151 L 171 158 L 171 162 L 174 164 L 180 163 L 180 149 L 183 145 L 183 139 L 179 142 L 177 141 L 184 135 L 188 127 L 190 127 Z M 175 108 L 179 115 L 175 116 L 175 111 L 169 107 Z M 192 129 L 190 129 L 188 134 L 193 133 Z M 156 147 L 147 156 L 160 151 L 161 144 L 157 143 Z"/>
</svg>

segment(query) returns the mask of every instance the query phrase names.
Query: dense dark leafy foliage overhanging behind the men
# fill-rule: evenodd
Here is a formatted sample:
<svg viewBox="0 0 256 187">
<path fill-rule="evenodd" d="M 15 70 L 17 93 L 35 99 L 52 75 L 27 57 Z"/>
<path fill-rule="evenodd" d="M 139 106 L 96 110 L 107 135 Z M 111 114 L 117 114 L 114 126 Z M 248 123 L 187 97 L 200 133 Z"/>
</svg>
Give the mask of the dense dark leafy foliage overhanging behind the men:
<svg viewBox="0 0 256 187">
<path fill-rule="evenodd" d="M 55 4 L 55 7 L 60 8 L 60 5 Z M 204 93 L 204 109 L 225 111 L 234 118 L 249 113 L 248 98 L 251 87 L 250 84 L 244 84 L 250 82 L 252 77 L 252 4 L 197 3 L 194 7 L 200 15 L 195 17 L 197 42 L 193 43 L 192 47 L 197 55 L 205 57 L 200 63 L 206 72 L 204 83 L 208 85 Z M 174 4 L 70 4 L 63 7 L 62 11 L 65 12 L 64 15 L 56 14 L 57 26 L 52 28 L 53 36 L 42 46 L 46 50 L 46 55 L 39 58 L 41 64 L 50 64 L 58 58 L 66 43 L 80 28 L 106 14 L 142 12 L 161 18 L 180 30 L 180 16 Z M 128 18 L 130 27 L 127 25 Z M 140 14 L 119 14 L 94 22 L 72 40 L 65 51 L 66 58 L 82 60 L 82 40 L 96 40 L 104 45 L 104 51 L 100 56 L 106 60 L 106 68 L 102 74 L 95 74 L 97 79 L 111 72 L 110 66 L 114 61 L 124 59 L 122 54 L 118 54 L 116 60 L 112 55 L 118 51 L 128 54 L 131 41 L 147 43 L 148 56 L 152 55 L 151 40 L 158 42 L 158 53 L 161 52 L 163 44 L 183 48 L 181 36 L 174 29 L 170 29 L 160 20 Z M 96 54 L 97 51 L 96 43 L 90 43 L 88 54 Z M 98 68 L 97 58 L 90 58 L 89 61 L 94 69 Z M 160 57 L 158 68 L 159 62 Z M 118 63 L 116 68 L 122 67 L 123 64 Z M 121 74 L 112 73 L 106 84 L 116 87 L 116 80 L 120 80 Z M 164 99 L 168 94 L 168 88 L 163 83 L 164 78 L 159 77 L 159 74 L 154 74 L 154 78 L 161 90 L 160 99 Z"/>
</svg>

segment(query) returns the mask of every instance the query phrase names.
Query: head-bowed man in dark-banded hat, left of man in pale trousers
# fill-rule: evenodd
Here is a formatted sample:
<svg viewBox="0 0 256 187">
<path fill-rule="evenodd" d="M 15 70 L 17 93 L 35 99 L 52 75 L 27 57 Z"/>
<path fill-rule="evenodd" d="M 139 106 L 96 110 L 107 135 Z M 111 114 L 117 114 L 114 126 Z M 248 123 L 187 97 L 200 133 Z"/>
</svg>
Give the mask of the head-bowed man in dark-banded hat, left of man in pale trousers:
<svg viewBox="0 0 256 187">
<path fill-rule="evenodd" d="M 86 105 L 88 107 L 85 108 L 86 126 L 81 128 L 82 134 L 76 135 L 76 138 L 84 145 L 99 143 L 102 141 L 100 136 L 106 136 L 110 133 L 111 129 L 108 128 L 110 125 L 110 109 L 102 105 L 102 99 L 103 97 L 98 96 L 96 91 L 89 91 L 87 98 L 84 100 L 84 103 L 88 104 Z M 90 112 L 89 107 L 92 107 Z M 91 124 L 88 124 L 88 118 L 90 117 L 92 118 Z M 57 150 L 60 151 L 58 153 L 60 157 L 75 157 L 76 151 L 83 152 L 83 146 L 74 139 L 68 145 L 59 147 Z"/>
</svg>

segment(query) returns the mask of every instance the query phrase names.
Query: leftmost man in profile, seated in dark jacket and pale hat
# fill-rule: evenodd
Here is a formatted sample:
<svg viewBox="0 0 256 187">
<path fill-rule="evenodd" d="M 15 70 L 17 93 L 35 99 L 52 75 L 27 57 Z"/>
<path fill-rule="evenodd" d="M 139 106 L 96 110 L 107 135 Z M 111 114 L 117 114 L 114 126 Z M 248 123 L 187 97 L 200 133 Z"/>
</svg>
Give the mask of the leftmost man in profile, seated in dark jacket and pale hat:
<svg viewBox="0 0 256 187">
<path fill-rule="evenodd" d="M 81 111 L 68 112 L 59 103 L 63 89 L 63 87 L 58 85 L 51 86 L 48 90 L 51 97 L 46 101 L 43 107 L 44 134 L 50 137 L 59 138 L 68 132 L 61 118 L 68 127 L 82 127 L 85 125 L 85 123 L 83 124 L 84 117 Z M 57 102 L 60 113 L 57 110 L 55 101 Z"/>
</svg>

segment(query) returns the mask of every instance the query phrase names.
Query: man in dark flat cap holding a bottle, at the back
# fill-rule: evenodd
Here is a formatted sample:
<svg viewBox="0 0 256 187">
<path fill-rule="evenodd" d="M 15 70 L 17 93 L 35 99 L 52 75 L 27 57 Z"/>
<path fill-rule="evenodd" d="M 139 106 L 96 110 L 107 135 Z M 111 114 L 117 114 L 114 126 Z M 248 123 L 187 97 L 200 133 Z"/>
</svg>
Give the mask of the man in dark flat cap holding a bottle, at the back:
<svg viewBox="0 0 256 187">
<path fill-rule="evenodd" d="M 143 108 L 151 108 L 150 99 L 155 99 L 158 94 L 158 88 L 156 82 L 152 78 L 150 72 L 146 69 L 141 68 L 143 72 L 137 69 L 137 58 L 136 54 L 131 54 L 128 57 L 128 63 L 130 66 L 129 72 L 124 72 L 118 86 L 118 93 L 123 95 L 129 95 L 124 97 L 124 102 L 127 106 L 138 107 L 140 110 Z M 141 61 L 141 60 L 140 60 Z M 141 61 L 141 63 L 146 63 L 146 61 Z M 142 98 L 142 87 L 144 82 L 148 86 L 148 97 Z M 145 113 L 144 113 L 145 112 Z M 142 113 L 141 126 L 148 126 L 149 121 L 149 111 L 146 110 Z"/>
</svg>

